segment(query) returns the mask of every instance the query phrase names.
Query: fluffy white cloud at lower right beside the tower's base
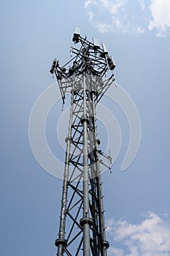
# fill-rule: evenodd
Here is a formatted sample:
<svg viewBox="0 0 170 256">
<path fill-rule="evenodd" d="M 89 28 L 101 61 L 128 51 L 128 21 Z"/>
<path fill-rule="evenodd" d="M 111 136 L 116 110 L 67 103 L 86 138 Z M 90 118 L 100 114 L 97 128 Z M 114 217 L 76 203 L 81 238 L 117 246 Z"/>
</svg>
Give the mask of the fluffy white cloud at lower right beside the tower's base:
<svg viewBox="0 0 170 256">
<path fill-rule="evenodd" d="M 169 256 L 170 225 L 164 217 L 150 213 L 141 224 L 131 224 L 125 219 L 107 221 L 107 234 L 113 238 L 108 255 L 119 256 Z"/>
</svg>

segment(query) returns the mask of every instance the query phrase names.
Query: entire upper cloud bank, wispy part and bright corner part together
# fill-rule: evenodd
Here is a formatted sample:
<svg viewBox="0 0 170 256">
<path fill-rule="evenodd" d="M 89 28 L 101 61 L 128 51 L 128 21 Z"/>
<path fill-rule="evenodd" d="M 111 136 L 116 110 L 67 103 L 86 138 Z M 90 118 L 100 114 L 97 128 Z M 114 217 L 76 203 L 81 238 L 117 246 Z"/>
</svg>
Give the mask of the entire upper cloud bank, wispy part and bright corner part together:
<svg viewBox="0 0 170 256">
<path fill-rule="evenodd" d="M 170 31 L 170 1 L 87 0 L 84 5 L 89 22 L 101 33 L 143 34 L 156 31 L 167 37 Z"/>
</svg>

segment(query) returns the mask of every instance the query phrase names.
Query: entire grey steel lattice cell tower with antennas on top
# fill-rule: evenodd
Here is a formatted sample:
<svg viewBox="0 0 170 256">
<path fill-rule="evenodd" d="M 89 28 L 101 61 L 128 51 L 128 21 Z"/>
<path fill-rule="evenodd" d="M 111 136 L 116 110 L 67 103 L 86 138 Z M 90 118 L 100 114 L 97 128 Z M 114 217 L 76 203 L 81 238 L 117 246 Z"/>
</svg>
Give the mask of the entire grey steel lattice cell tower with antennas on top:
<svg viewBox="0 0 170 256">
<path fill-rule="evenodd" d="M 115 63 L 106 45 L 98 39 L 89 42 L 74 28 L 72 58 L 60 66 L 54 59 L 55 75 L 63 104 L 71 94 L 69 132 L 63 172 L 58 256 L 107 256 L 101 165 L 110 169 L 112 158 L 99 150 L 96 131 L 96 105 L 115 81 Z"/>
</svg>

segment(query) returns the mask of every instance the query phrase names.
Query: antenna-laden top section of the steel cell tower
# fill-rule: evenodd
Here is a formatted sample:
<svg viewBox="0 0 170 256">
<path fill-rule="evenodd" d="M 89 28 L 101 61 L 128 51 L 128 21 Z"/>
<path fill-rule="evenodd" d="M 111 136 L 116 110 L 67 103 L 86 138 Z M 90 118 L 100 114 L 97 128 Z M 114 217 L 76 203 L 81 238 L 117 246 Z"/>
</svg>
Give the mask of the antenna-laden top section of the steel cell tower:
<svg viewBox="0 0 170 256">
<path fill-rule="evenodd" d="M 87 37 L 81 37 L 79 27 L 74 27 L 72 41 L 74 45 L 70 50 L 71 59 L 64 65 L 61 65 L 58 59 L 54 59 L 50 69 L 51 74 L 54 74 L 58 80 L 63 103 L 66 93 L 74 90 L 73 77 L 80 78 L 81 75 L 98 77 L 100 84 L 97 82 L 99 87 L 96 88 L 96 96 L 99 99 L 101 98 L 99 96 L 108 89 L 108 85 L 115 81 L 113 78 L 115 61 L 109 56 L 104 42 L 100 45 L 96 37 L 93 37 L 93 42 L 88 41 Z M 107 80 L 104 81 L 102 78 Z"/>
</svg>

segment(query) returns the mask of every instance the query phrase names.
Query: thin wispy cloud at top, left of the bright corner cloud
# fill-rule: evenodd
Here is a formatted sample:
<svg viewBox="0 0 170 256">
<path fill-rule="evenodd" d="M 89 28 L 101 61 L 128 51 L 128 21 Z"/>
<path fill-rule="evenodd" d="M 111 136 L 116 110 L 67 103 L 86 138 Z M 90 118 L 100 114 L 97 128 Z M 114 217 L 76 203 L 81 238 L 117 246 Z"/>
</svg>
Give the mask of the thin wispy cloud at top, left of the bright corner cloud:
<svg viewBox="0 0 170 256">
<path fill-rule="evenodd" d="M 144 32 L 144 28 L 136 23 L 134 13 L 128 13 L 128 0 L 87 0 L 85 9 L 88 10 L 89 22 L 101 33 Z"/>
</svg>

